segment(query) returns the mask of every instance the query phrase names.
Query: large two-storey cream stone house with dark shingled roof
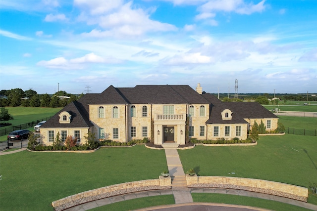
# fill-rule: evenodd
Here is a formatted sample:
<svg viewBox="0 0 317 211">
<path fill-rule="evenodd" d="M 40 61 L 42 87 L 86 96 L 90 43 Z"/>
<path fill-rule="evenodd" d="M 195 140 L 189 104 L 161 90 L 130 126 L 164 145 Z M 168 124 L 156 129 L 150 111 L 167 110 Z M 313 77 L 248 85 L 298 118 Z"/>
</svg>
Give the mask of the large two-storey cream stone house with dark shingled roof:
<svg viewBox="0 0 317 211">
<path fill-rule="evenodd" d="M 127 142 L 150 138 L 154 144 L 185 144 L 197 139 L 246 139 L 250 125 L 263 121 L 277 128 L 278 117 L 256 102 L 222 102 L 189 85 L 137 85 L 100 94 L 85 94 L 41 126 L 42 141 L 51 145 L 57 132 L 86 142 L 88 131 L 97 139 Z"/>
</svg>

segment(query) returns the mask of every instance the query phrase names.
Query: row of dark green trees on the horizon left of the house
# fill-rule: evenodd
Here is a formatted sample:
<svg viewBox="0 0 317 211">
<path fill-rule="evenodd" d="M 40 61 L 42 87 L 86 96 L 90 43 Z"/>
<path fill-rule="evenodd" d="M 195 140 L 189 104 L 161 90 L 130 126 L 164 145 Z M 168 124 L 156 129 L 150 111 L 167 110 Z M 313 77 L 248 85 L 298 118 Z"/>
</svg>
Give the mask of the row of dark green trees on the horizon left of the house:
<svg viewBox="0 0 317 211">
<path fill-rule="evenodd" d="M 65 107 L 68 103 L 78 100 L 84 94 L 74 95 L 66 91 L 58 91 L 52 94 L 38 94 L 35 90 L 23 91 L 21 88 L 0 91 L 0 107 L 5 106 L 25 106 L 25 107 Z M 66 96 L 67 98 L 61 98 Z M 69 98 L 68 98 L 69 97 Z"/>
</svg>

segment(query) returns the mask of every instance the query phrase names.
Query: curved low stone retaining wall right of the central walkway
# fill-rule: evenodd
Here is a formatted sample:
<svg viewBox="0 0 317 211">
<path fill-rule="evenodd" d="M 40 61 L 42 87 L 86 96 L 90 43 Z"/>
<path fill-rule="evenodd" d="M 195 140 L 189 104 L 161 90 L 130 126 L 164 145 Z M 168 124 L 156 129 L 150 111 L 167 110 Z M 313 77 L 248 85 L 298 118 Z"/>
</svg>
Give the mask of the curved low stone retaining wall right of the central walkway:
<svg viewBox="0 0 317 211">
<path fill-rule="evenodd" d="M 247 190 L 307 202 L 308 189 L 281 182 L 228 176 L 188 176 L 188 187 L 212 187 Z"/>
</svg>

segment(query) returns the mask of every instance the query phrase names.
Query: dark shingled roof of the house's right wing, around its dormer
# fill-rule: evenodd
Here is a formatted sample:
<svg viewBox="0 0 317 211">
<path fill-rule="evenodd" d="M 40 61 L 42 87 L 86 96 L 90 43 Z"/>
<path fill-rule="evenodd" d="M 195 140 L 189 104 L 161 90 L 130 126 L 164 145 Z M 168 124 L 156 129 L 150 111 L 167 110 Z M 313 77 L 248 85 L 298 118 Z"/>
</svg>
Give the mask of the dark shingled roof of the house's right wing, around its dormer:
<svg viewBox="0 0 317 211">
<path fill-rule="evenodd" d="M 231 120 L 222 120 L 224 109 L 232 111 Z M 211 106 L 210 119 L 206 124 L 240 124 L 248 123 L 244 119 L 278 118 L 257 102 L 222 102 Z"/>
</svg>

